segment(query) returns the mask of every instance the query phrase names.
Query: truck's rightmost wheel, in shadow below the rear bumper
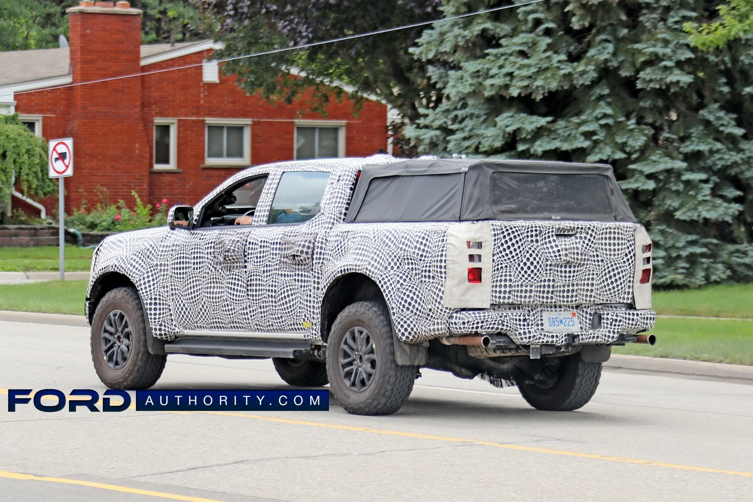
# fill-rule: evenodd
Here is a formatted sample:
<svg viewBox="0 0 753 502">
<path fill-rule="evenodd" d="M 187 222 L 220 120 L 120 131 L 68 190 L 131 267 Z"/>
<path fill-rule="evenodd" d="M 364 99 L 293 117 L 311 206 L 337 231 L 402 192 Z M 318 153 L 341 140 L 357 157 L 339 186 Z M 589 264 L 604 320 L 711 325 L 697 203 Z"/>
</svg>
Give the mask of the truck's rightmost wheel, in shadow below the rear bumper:
<svg viewBox="0 0 753 502">
<path fill-rule="evenodd" d="M 593 397 L 602 376 L 601 363 L 586 363 L 581 354 L 541 360 L 538 378 L 518 382 L 523 399 L 535 409 L 572 411 Z"/>
</svg>

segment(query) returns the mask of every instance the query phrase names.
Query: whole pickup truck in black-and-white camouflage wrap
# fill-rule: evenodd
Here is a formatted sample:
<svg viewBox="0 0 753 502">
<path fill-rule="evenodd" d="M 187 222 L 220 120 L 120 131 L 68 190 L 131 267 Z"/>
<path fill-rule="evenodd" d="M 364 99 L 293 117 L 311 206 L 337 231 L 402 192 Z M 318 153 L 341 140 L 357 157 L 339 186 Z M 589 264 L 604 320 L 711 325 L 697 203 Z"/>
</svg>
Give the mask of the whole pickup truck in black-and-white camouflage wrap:
<svg viewBox="0 0 753 502">
<path fill-rule="evenodd" d="M 651 240 L 605 165 L 274 163 L 167 223 L 95 251 L 86 312 L 108 387 L 151 387 L 168 354 L 271 357 L 356 414 L 398 411 L 422 367 L 573 410 L 656 317 Z"/>
</svg>

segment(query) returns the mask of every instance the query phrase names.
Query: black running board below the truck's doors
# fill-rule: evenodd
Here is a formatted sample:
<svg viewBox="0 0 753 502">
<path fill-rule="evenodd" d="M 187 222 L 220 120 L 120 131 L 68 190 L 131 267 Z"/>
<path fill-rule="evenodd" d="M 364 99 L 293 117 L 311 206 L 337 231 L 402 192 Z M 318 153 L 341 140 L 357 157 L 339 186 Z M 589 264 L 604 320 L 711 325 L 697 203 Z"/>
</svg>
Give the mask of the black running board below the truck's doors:
<svg viewBox="0 0 753 502">
<path fill-rule="evenodd" d="M 181 336 L 165 344 L 168 354 L 197 354 L 233 357 L 298 357 L 311 351 L 306 340 L 220 338 Z"/>
</svg>

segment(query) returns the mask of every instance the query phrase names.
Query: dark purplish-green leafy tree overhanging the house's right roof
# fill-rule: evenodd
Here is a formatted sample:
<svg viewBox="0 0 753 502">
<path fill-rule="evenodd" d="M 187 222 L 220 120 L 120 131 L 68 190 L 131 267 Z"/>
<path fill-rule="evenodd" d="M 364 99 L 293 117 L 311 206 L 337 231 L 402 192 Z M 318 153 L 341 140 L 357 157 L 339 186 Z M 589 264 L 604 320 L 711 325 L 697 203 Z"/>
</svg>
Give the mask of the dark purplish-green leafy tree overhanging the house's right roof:
<svg viewBox="0 0 753 502">
<path fill-rule="evenodd" d="M 239 56 L 278 47 L 324 41 L 355 33 L 403 26 L 441 17 L 441 0 L 204 0 L 223 19 L 219 55 Z M 312 47 L 307 50 L 242 59 L 225 71 L 239 75 L 248 93 L 270 101 L 306 96 L 311 108 L 326 112 L 328 84 L 344 81 L 352 97 L 380 96 L 409 120 L 419 108 L 435 108 L 442 99 L 427 78 L 426 65 L 408 53 L 424 27 Z M 305 75 L 288 78 L 291 68 Z M 310 94 L 309 94 L 310 93 Z M 335 96 L 339 97 L 339 96 Z"/>
</svg>

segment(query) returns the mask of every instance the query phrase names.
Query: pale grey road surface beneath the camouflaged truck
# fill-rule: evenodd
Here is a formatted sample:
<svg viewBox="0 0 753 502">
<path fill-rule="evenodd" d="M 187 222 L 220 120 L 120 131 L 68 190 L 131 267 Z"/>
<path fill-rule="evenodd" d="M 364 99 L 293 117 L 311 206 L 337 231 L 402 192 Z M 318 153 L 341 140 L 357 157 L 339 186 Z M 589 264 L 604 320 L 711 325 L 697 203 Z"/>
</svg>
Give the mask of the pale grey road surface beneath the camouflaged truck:
<svg viewBox="0 0 753 502">
<path fill-rule="evenodd" d="M 605 370 L 557 413 L 424 370 L 388 417 L 11 413 L 8 388 L 104 391 L 87 328 L 0 321 L 0 500 L 753 500 L 750 382 Z M 155 388 L 285 385 L 270 361 L 171 356 Z"/>
</svg>

